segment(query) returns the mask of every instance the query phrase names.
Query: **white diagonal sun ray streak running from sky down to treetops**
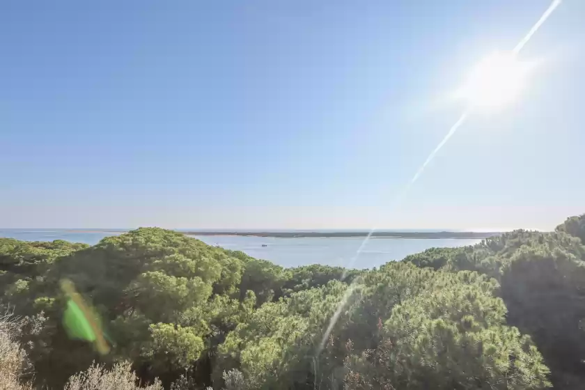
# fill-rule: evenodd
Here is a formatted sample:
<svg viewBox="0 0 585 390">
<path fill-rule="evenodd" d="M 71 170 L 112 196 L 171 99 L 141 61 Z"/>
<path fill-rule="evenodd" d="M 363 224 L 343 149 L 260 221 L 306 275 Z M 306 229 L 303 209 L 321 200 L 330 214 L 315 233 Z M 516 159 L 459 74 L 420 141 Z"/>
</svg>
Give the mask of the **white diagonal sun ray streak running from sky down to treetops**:
<svg viewBox="0 0 585 390">
<path fill-rule="evenodd" d="M 534 33 L 536 33 L 536 31 L 538 31 L 540 26 L 542 26 L 543 23 L 546 22 L 548 17 L 553 13 L 553 11 L 556 9 L 556 7 L 558 7 L 560 4 L 561 4 L 561 0 L 553 0 L 552 1 L 551 5 L 547 8 L 547 10 L 545 10 L 545 13 L 543 13 L 543 15 L 540 17 L 540 19 L 532 26 L 532 28 L 528 31 L 528 33 L 526 33 L 526 36 L 524 36 L 524 38 L 522 38 L 522 40 L 520 40 L 520 42 L 518 42 L 518 44 L 514 47 L 513 54 L 518 54 L 520 52 L 520 50 L 522 50 L 522 48 L 526 45 L 526 43 L 530 40 L 530 38 L 532 38 Z M 467 119 L 469 114 L 471 114 L 471 111 L 468 109 L 460 116 L 460 118 L 457 120 L 457 122 L 455 122 L 455 124 L 453 126 L 451 126 L 451 129 L 449 129 L 449 131 L 447 132 L 445 137 L 442 139 L 442 141 L 439 142 L 439 144 L 435 147 L 435 149 L 432 150 L 430 155 L 428 155 L 428 157 L 426 158 L 425 162 L 423 162 L 423 164 L 421 165 L 419 170 L 416 171 L 416 173 L 414 173 L 414 176 L 412 176 L 412 179 L 410 179 L 410 181 L 405 185 L 403 190 L 400 191 L 400 193 L 398 193 L 398 195 L 394 199 L 393 203 L 391 204 L 390 210 L 393 210 L 396 206 L 398 206 L 400 204 L 400 201 L 402 201 L 404 196 L 409 191 L 410 187 L 412 187 L 412 185 L 414 185 L 414 182 L 416 182 L 416 180 L 419 180 L 419 177 L 421 176 L 421 174 L 425 170 L 426 166 L 432 161 L 432 159 L 435 157 L 435 155 L 437 155 L 437 153 L 439 152 L 439 150 L 441 150 L 441 148 L 445 145 L 445 143 L 449 139 L 451 139 L 451 137 L 453 137 L 453 134 L 455 134 L 455 132 L 457 132 L 458 128 L 461 127 L 461 125 L 465 122 L 465 120 Z M 375 231 L 375 228 L 372 228 L 370 230 L 370 233 L 368 233 L 366 238 L 364 238 L 364 240 L 361 242 L 359 248 L 356 251 L 356 254 L 352 257 L 352 259 L 348 263 L 346 270 L 343 271 L 343 275 L 341 276 L 341 280 L 345 279 L 345 276 L 347 276 L 348 268 L 352 267 L 354 265 L 354 263 L 357 261 L 357 258 L 359 258 L 361 251 L 364 250 L 364 247 L 366 246 L 366 244 L 370 240 L 370 237 L 372 237 L 374 231 Z M 321 343 L 319 343 L 319 348 L 317 350 L 316 356 L 319 356 L 321 351 L 323 350 L 323 348 L 325 348 L 325 343 L 327 342 L 327 338 L 329 338 L 329 334 L 331 334 L 333 327 L 335 326 L 337 320 L 339 319 L 339 316 L 341 315 L 341 311 L 343 311 L 343 308 L 348 303 L 348 300 L 350 299 L 350 297 L 353 295 L 353 292 L 354 292 L 356 285 L 357 285 L 357 281 L 359 281 L 359 279 L 360 279 L 360 276 L 358 276 L 354 281 L 352 281 L 352 283 L 348 287 L 348 290 L 345 291 L 345 294 L 341 298 L 341 301 L 339 302 L 339 305 L 338 305 L 335 313 L 331 316 L 331 320 L 329 320 L 329 325 L 327 326 L 327 329 L 325 329 L 325 334 L 323 334 L 323 338 L 321 340 Z"/>
</svg>

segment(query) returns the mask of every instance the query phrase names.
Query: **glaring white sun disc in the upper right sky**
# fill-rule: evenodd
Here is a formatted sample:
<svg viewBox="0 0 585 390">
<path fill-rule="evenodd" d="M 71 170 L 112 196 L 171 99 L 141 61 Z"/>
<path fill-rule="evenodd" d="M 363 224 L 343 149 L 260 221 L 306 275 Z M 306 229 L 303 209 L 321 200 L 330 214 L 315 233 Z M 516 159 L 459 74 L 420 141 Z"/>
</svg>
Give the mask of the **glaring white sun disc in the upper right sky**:
<svg viewBox="0 0 585 390">
<path fill-rule="evenodd" d="M 530 68 L 511 52 L 496 52 L 471 70 L 458 96 L 474 111 L 501 109 L 522 93 Z"/>
</svg>

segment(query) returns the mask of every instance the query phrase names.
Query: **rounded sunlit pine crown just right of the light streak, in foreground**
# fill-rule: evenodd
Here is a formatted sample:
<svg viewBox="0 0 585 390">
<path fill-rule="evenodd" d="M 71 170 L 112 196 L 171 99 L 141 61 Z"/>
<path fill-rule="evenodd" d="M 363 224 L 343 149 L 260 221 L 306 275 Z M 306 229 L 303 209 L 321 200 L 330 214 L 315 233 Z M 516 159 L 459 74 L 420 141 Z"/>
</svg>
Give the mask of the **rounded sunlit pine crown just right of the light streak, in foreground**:
<svg viewBox="0 0 585 390">
<path fill-rule="evenodd" d="M 536 347 L 504 325 L 504 313 L 499 299 L 473 284 L 426 290 L 393 309 L 365 360 L 383 361 L 376 380 L 402 389 L 547 387 Z"/>
</svg>

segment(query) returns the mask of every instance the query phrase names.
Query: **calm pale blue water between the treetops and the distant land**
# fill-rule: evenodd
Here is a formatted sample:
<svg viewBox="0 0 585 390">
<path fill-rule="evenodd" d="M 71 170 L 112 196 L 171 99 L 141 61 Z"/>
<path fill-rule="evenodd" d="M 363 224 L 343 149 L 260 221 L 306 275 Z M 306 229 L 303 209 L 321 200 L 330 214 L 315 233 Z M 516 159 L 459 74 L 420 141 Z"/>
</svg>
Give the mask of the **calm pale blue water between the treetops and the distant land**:
<svg viewBox="0 0 585 390">
<path fill-rule="evenodd" d="M 115 235 L 107 231 L 61 230 L 61 229 L 0 229 L 0 237 L 13 237 L 27 241 L 67 240 L 95 244 L 104 237 Z M 249 256 L 263 258 L 283 265 L 295 267 L 320 263 L 341 265 L 343 267 L 371 268 L 391 260 L 401 260 L 405 256 L 424 251 L 431 247 L 461 247 L 476 244 L 480 240 L 416 240 L 373 238 L 361 251 L 359 258 L 352 265 L 352 258 L 364 237 L 354 238 L 276 238 L 276 237 L 241 237 L 228 235 L 192 236 L 210 244 L 226 249 L 244 251 Z M 265 244 L 266 247 L 262 245 Z"/>
</svg>

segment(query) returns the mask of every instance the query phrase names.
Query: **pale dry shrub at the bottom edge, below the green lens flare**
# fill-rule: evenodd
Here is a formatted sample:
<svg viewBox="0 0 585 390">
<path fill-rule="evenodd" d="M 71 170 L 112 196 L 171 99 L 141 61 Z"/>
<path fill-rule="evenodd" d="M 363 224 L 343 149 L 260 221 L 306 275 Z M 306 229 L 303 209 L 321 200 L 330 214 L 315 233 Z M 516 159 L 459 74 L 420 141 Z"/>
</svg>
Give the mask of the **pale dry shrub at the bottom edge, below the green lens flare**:
<svg viewBox="0 0 585 390">
<path fill-rule="evenodd" d="M 70 377 L 65 390 L 163 390 L 159 380 L 146 387 L 137 383 L 138 378 L 128 362 L 116 364 L 111 370 L 93 364 L 86 371 Z"/>
</svg>

